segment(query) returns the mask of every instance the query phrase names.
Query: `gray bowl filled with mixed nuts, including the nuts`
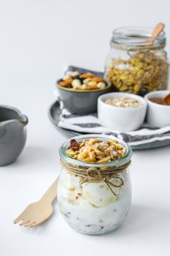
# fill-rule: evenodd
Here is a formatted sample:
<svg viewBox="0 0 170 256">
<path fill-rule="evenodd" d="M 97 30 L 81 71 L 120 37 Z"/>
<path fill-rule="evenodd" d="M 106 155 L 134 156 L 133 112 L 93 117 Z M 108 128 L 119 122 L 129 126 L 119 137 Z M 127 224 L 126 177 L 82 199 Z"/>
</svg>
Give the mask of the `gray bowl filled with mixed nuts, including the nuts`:
<svg viewBox="0 0 170 256">
<path fill-rule="evenodd" d="M 92 72 L 66 72 L 57 81 L 57 88 L 63 105 L 71 113 L 88 114 L 97 111 L 97 99 L 110 90 L 110 85 L 101 76 Z"/>
</svg>

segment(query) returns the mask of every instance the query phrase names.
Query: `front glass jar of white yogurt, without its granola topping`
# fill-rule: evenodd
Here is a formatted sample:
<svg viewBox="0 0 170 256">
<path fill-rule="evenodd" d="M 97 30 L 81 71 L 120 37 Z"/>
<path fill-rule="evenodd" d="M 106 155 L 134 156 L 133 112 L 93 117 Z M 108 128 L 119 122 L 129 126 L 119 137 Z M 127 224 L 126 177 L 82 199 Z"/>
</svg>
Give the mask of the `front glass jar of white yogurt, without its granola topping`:
<svg viewBox="0 0 170 256">
<path fill-rule="evenodd" d="M 75 139 L 78 142 L 98 138 L 99 140 L 117 140 L 107 135 L 82 135 Z M 63 218 L 74 230 L 80 233 L 98 235 L 109 233 L 120 226 L 131 206 L 131 182 L 128 165 L 131 162 L 131 148 L 122 140 L 120 145 L 126 147 L 121 159 L 104 163 L 82 162 L 66 154 L 69 140 L 60 148 L 61 174 L 58 179 L 58 206 Z M 69 167 L 76 167 L 72 173 Z M 111 178 L 100 181 L 82 182 L 79 168 L 86 168 L 88 175 L 100 175 L 115 169 Z M 72 168 L 71 168 L 72 169 Z M 89 172 L 90 171 L 90 172 Z M 99 172 L 99 173 L 98 173 Z M 93 178 L 92 178 L 93 180 Z"/>
</svg>

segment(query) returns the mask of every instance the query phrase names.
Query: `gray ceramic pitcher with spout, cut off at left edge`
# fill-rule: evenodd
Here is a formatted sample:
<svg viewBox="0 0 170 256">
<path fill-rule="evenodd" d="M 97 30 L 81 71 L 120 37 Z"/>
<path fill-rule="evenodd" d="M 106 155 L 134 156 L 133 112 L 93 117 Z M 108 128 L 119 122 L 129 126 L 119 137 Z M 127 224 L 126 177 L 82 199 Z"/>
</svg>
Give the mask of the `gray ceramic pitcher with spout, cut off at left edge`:
<svg viewBox="0 0 170 256">
<path fill-rule="evenodd" d="M 9 165 L 26 143 L 28 118 L 20 110 L 0 105 L 0 166 Z"/>
</svg>

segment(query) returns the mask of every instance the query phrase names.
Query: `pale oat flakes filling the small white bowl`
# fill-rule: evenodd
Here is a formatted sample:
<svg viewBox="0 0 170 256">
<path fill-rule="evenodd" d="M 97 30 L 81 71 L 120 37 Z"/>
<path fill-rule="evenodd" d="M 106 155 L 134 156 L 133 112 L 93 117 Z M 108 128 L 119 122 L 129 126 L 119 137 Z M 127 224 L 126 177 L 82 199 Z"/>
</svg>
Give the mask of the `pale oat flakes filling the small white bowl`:
<svg viewBox="0 0 170 256">
<path fill-rule="evenodd" d="M 105 99 L 105 103 L 108 105 L 112 105 L 119 108 L 138 108 L 142 104 L 136 99 L 128 98 L 128 97 L 120 97 L 113 99 Z"/>
</svg>

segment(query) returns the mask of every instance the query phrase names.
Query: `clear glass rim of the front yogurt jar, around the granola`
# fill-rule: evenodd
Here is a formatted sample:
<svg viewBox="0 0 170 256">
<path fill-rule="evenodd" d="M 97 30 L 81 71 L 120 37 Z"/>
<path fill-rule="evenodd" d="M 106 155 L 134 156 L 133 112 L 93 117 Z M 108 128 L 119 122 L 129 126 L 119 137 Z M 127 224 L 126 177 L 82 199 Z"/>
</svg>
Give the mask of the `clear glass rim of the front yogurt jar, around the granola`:
<svg viewBox="0 0 170 256">
<path fill-rule="evenodd" d="M 117 160 L 114 160 L 111 162 L 104 162 L 104 163 L 82 162 L 80 160 L 73 159 L 72 157 L 69 157 L 66 154 L 66 149 L 69 148 L 71 139 L 75 139 L 78 142 L 81 142 L 82 140 L 85 140 L 85 139 L 89 140 L 90 138 L 99 138 L 100 140 L 117 140 L 122 146 L 125 146 L 127 148 L 126 154 L 124 157 L 122 157 L 120 159 L 117 159 Z M 125 165 L 125 163 L 127 163 L 131 159 L 132 149 L 130 146 L 128 146 L 127 143 L 125 143 L 125 141 L 120 140 L 119 138 L 117 138 L 113 135 L 90 134 L 90 135 L 79 135 L 79 136 L 70 138 L 69 140 L 66 140 L 66 142 L 63 143 L 63 145 L 60 147 L 59 154 L 60 154 L 61 159 L 63 159 L 63 161 L 67 162 L 68 164 L 72 164 L 72 165 L 84 166 L 84 167 L 111 167 L 111 166 L 119 167 L 121 165 Z"/>
</svg>

